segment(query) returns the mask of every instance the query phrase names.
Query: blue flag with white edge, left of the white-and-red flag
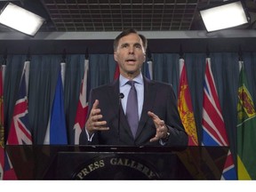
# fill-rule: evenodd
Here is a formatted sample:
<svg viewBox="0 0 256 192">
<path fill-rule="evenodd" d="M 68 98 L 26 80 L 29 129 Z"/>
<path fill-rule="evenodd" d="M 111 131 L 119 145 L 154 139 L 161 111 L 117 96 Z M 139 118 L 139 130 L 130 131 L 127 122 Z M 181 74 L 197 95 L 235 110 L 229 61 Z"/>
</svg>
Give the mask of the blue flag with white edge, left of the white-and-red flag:
<svg viewBox="0 0 256 192">
<path fill-rule="evenodd" d="M 64 95 L 61 71 L 59 70 L 55 87 L 52 110 L 49 118 L 44 144 L 65 145 L 68 144 L 67 126 L 64 111 Z"/>
</svg>

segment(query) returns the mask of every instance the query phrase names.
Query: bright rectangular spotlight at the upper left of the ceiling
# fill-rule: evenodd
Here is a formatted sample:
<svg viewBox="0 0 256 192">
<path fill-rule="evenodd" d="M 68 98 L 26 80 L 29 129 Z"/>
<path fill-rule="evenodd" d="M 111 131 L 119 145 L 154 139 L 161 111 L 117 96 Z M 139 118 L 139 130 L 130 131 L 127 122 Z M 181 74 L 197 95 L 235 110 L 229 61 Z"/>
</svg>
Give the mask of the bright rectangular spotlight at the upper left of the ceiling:
<svg viewBox="0 0 256 192">
<path fill-rule="evenodd" d="M 9 28 L 18 30 L 28 36 L 35 36 L 44 23 L 44 18 L 9 3 L 0 13 L 0 23 Z"/>
</svg>

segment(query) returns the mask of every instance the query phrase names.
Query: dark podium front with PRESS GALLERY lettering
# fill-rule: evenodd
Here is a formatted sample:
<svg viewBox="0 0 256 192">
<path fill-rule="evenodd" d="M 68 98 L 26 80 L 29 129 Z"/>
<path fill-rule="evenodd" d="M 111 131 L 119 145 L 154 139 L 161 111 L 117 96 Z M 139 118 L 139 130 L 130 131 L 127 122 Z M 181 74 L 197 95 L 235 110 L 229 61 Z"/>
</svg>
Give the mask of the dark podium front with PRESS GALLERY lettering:
<svg viewBox="0 0 256 192">
<path fill-rule="evenodd" d="M 19 180 L 220 180 L 226 147 L 6 146 Z"/>
</svg>

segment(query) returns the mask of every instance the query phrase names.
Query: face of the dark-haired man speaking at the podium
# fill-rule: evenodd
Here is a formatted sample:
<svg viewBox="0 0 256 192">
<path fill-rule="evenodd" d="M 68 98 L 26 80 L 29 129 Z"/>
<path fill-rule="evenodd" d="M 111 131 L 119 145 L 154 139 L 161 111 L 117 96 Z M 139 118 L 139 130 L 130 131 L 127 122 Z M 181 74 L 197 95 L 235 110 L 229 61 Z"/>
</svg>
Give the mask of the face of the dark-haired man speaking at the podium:
<svg viewBox="0 0 256 192">
<path fill-rule="evenodd" d="M 140 68 L 146 60 L 142 40 L 137 34 L 123 36 L 114 52 L 116 62 L 120 67 L 120 74 L 124 77 L 135 77 L 140 74 Z"/>
</svg>

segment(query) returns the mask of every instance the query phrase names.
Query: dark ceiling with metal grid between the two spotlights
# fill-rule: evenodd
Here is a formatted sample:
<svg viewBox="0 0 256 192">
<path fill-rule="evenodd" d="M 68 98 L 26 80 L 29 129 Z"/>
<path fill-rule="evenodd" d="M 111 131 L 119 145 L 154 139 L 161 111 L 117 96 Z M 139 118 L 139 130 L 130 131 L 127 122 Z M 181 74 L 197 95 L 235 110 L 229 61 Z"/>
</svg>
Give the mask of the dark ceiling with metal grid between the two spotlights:
<svg viewBox="0 0 256 192">
<path fill-rule="evenodd" d="M 223 0 L 12 0 L 46 19 L 40 31 L 204 30 L 198 8 Z M 255 1 L 246 0 L 249 11 Z M 252 15 L 253 17 L 253 15 Z M 0 25 L 0 32 L 10 31 Z"/>
</svg>

